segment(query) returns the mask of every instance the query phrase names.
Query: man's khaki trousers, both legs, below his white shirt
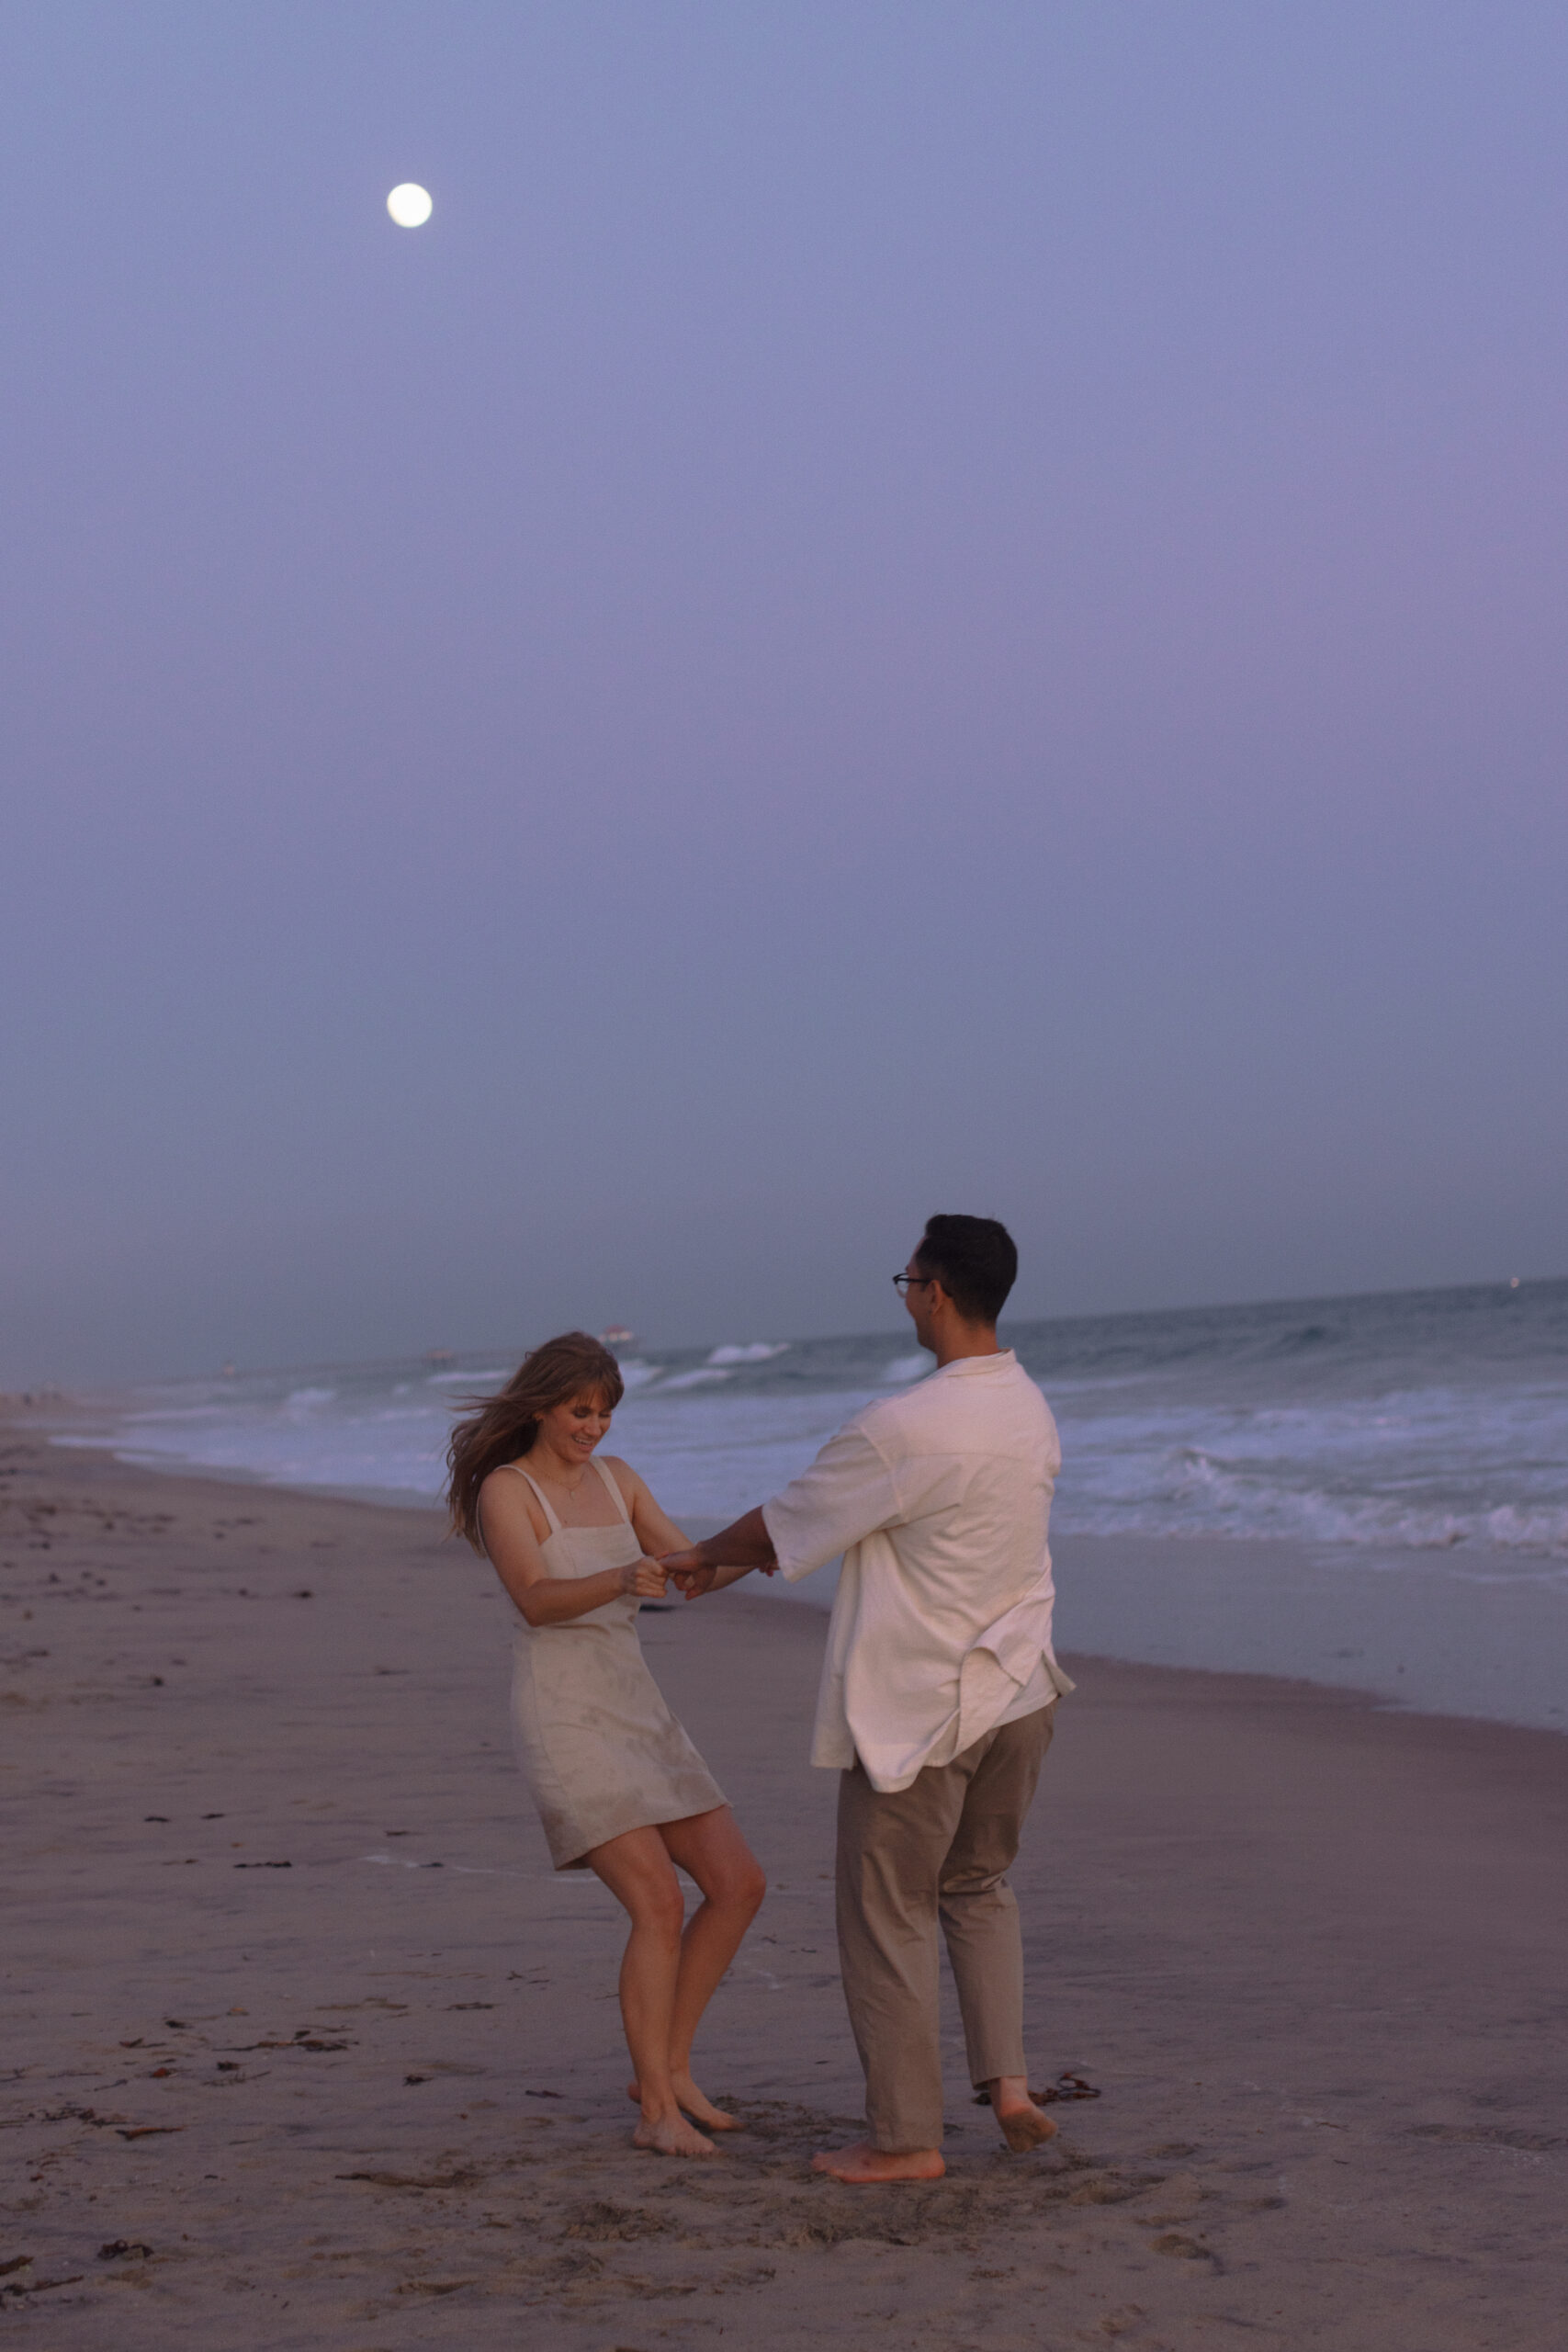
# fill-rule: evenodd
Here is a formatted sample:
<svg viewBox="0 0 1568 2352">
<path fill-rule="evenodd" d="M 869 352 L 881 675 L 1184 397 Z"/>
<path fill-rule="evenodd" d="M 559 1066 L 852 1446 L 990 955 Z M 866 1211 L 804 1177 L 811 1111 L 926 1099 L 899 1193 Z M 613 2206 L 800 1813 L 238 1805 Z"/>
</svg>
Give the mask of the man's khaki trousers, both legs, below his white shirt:
<svg viewBox="0 0 1568 2352">
<path fill-rule="evenodd" d="M 872 2147 L 943 2145 L 938 1919 L 959 1987 L 969 2077 L 1023 2074 L 1023 1933 L 1004 1872 L 1018 1853 L 1056 1708 L 1020 1715 L 952 1764 L 879 1795 L 839 1778 L 839 1969 L 865 2067 Z"/>
</svg>

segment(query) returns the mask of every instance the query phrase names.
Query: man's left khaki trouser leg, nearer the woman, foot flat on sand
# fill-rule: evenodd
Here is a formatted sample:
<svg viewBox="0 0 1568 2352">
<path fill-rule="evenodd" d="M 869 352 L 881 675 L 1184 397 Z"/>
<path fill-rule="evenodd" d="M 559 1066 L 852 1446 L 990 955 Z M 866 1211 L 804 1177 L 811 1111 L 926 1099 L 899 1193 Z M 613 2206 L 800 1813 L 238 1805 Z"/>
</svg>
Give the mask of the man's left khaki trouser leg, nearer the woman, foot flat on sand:
<svg viewBox="0 0 1568 2352">
<path fill-rule="evenodd" d="M 943 2145 L 936 1912 L 961 1802 L 950 1769 L 891 1797 L 863 1764 L 839 1778 L 839 1971 L 872 2147 Z"/>
</svg>

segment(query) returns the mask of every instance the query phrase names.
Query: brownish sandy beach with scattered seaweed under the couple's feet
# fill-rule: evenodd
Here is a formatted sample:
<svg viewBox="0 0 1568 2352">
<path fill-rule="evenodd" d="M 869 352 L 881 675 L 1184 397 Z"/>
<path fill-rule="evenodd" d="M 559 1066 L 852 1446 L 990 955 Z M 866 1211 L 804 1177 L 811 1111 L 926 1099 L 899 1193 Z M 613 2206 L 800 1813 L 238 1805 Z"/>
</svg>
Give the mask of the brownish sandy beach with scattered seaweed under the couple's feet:
<svg viewBox="0 0 1568 2352">
<path fill-rule="evenodd" d="M 621 1915 L 545 1863 L 489 1569 L 26 1414 L 0 1472 L 19 2343 L 1559 2352 L 1559 1733 L 1072 1658 L 1016 1884 L 1034 2079 L 1100 2096 L 1006 2157 L 950 2018 L 947 2178 L 846 2190 L 825 1618 L 649 1613 L 773 1882 L 698 2067 L 748 2129 L 677 2166 L 628 2140 Z"/>
</svg>

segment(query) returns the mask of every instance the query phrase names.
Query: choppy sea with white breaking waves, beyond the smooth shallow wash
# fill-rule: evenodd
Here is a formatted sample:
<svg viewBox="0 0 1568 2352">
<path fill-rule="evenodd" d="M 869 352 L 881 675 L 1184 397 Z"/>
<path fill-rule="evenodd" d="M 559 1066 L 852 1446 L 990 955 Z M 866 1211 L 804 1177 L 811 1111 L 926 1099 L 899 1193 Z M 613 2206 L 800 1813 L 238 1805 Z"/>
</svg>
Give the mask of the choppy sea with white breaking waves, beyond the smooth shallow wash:
<svg viewBox="0 0 1568 2352">
<path fill-rule="evenodd" d="M 1058 1531 L 1392 1548 L 1441 1573 L 1481 1552 L 1530 1573 L 1568 1562 L 1568 1284 L 1009 1336 L 1063 1430 Z M 433 1498 L 451 1414 L 505 1376 L 496 1362 L 165 1383 L 103 1435 L 143 1461 Z M 677 1517 L 733 1517 L 929 1369 L 889 1334 L 628 1357 L 611 1449 Z"/>
</svg>

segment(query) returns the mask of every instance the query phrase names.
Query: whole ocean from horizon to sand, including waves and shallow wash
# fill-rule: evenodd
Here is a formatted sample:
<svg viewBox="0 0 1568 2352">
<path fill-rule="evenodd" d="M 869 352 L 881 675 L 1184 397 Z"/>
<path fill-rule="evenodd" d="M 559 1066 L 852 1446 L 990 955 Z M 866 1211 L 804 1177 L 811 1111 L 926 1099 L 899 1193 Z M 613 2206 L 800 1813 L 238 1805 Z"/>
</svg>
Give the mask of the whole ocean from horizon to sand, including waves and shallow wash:
<svg viewBox="0 0 1568 2352">
<path fill-rule="evenodd" d="M 1450 1661 L 1436 1679 L 1425 1670 L 1401 1679 L 1399 1696 L 1559 1719 L 1568 1282 L 1063 1317 L 1004 1324 L 1001 1336 L 1063 1432 L 1051 1529 L 1070 1644 L 1074 1595 L 1060 1571 L 1077 1557 L 1070 1538 L 1121 1538 L 1121 1552 L 1084 1545 L 1084 1562 L 1133 1557 L 1128 1541 L 1135 1557 L 1180 1562 L 1182 1573 L 1197 1573 L 1201 1557 L 1208 1581 L 1234 1592 L 1229 1613 L 1251 1618 L 1258 1637 L 1239 1658 L 1225 1602 L 1199 1611 L 1206 1632 L 1171 1632 L 1150 1571 L 1110 1618 L 1081 1609 L 1079 1646 L 1349 1682 L 1361 1661 L 1368 1679 L 1394 1682 L 1392 1658 L 1380 1668 L 1373 1651 L 1366 1665 L 1354 1639 L 1335 1649 L 1302 1632 L 1298 1604 L 1316 1581 L 1333 1595 L 1331 1616 L 1378 1618 L 1399 1592 L 1392 1646 L 1436 1644 Z M 522 1345 L 165 1381 L 87 1399 L 92 1421 L 78 1406 L 59 1442 L 108 1442 L 155 1468 L 430 1503 L 454 1411 L 505 1378 Z M 628 1392 L 611 1449 L 677 1519 L 708 1526 L 776 1491 L 851 1411 L 929 1369 L 907 1329 L 710 1348 L 646 1338 L 618 1355 Z M 1166 1538 L 1180 1552 L 1150 1550 Z M 1190 1538 L 1208 1541 L 1190 1548 Z M 830 1578 L 797 1597 L 827 1599 Z M 1182 1625 L 1190 1616 L 1178 1611 Z M 1425 1635 L 1406 1642 L 1408 1621 Z M 1490 1668 L 1481 1693 L 1455 1665 L 1455 1646 L 1474 1658 L 1476 1639 Z"/>
</svg>

